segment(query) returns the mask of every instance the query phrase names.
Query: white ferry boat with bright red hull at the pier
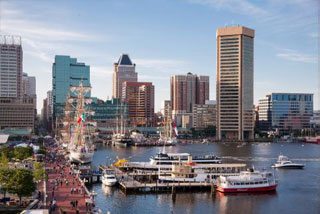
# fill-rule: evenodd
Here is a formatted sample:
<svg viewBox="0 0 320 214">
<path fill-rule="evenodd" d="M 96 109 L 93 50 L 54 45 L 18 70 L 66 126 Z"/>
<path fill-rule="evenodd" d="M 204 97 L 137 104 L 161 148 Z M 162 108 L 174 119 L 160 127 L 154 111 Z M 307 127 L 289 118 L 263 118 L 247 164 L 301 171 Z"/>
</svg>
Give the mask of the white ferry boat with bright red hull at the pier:
<svg viewBox="0 0 320 214">
<path fill-rule="evenodd" d="M 239 176 L 220 176 L 217 180 L 217 191 L 235 192 L 268 192 L 275 191 L 277 180 L 270 172 L 259 172 L 253 169 L 243 171 Z"/>
</svg>

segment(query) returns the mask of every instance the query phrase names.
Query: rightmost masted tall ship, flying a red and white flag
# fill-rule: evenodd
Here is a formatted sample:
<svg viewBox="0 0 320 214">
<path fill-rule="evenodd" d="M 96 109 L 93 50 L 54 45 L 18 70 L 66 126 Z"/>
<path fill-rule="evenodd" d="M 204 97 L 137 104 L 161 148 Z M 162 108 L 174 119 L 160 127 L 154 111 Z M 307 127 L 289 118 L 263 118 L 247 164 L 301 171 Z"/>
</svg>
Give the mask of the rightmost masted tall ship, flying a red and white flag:
<svg viewBox="0 0 320 214">
<path fill-rule="evenodd" d="M 173 131 L 175 135 L 173 135 Z M 177 144 L 178 129 L 176 124 L 173 124 L 172 128 L 172 120 L 170 117 L 165 117 L 163 121 L 163 127 L 160 131 L 160 138 L 158 140 L 159 144 L 164 145 L 175 145 Z"/>
</svg>

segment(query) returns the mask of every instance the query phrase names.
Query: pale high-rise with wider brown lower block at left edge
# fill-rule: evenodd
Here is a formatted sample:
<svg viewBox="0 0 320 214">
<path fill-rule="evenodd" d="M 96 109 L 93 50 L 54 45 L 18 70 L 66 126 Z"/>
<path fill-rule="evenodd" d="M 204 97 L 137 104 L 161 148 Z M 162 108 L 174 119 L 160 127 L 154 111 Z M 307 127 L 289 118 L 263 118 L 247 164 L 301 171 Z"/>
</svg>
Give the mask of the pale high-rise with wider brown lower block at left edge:
<svg viewBox="0 0 320 214">
<path fill-rule="evenodd" d="M 34 129 L 36 98 L 23 91 L 21 37 L 0 36 L 0 129 Z"/>
</svg>

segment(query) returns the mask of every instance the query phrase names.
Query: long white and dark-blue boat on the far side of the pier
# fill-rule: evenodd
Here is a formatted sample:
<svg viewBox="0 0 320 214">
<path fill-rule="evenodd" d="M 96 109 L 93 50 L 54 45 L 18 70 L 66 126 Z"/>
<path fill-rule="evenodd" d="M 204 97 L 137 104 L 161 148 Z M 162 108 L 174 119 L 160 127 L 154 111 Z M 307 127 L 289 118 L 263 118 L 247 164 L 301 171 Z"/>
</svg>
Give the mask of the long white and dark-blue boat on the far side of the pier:
<svg viewBox="0 0 320 214">
<path fill-rule="evenodd" d="M 191 156 L 189 153 L 166 153 L 165 151 L 159 152 L 154 157 L 150 158 L 151 165 L 171 165 L 177 163 L 179 159 L 181 162 L 187 162 L 188 157 Z M 193 163 L 196 164 L 220 164 L 222 163 L 221 158 L 215 155 L 205 156 L 193 156 Z"/>
</svg>

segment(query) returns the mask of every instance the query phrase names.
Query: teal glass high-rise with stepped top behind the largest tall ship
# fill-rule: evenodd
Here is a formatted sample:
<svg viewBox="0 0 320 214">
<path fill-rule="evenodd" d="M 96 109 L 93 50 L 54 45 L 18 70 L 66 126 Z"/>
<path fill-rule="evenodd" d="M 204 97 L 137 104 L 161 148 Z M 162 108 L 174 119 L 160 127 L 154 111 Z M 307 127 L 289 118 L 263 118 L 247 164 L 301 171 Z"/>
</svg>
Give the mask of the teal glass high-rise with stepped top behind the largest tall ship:
<svg viewBox="0 0 320 214">
<path fill-rule="evenodd" d="M 52 66 L 52 97 L 53 119 L 63 115 L 66 96 L 70 93 L 70 86 L 90 86 L 90 66 L 77 62 L 70 56 L 55 56 Z M 72 94 L 70 94 L 72 96 Z M 87 95 L 90 96 L 90 93 Z"/>
</svg>

